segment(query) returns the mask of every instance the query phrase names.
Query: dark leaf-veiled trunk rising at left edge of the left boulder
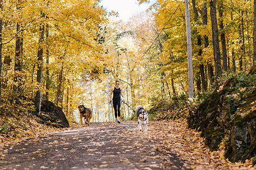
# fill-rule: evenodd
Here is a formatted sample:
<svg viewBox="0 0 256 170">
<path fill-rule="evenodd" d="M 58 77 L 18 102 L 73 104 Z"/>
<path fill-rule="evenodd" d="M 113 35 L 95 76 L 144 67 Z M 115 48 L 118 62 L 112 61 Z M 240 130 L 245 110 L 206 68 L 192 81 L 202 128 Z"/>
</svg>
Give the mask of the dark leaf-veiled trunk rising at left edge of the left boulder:
<svg viewBox="0 0 256 170">
<path fill-rule="evenodd" d="M 45 14 L 42 12 L 42 17 L 44 17 Z M 43 47 L 42 47 L 42 42 L 44 41 L 44 24 L 40 24 L 39 28 L 39 47 L 38 47 L 38 71 L 36 73 L 36 81 L 42 86 L 42 76 L 43 76 Z M 40 109 L 41 109 L 41 104 L 42 104 L 42 92 L 40 90 L 36 91 L 36 96 L 35 96 L 35 106 L 36 106 L 36 111 L 38 114 L 40 114 Z"/>
</svg>

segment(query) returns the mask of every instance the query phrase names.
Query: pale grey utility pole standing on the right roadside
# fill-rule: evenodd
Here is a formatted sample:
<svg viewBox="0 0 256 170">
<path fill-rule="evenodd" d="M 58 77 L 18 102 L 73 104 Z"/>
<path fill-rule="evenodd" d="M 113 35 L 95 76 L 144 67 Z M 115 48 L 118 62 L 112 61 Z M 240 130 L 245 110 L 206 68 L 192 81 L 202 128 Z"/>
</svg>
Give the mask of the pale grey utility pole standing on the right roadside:
<svg viewBox="0 0 256 170">
<path fill-rule="evenodd" d="M 191 29 L 188 0 L 185 0 L 185 18 L 187 31 L 187 52 L 188 52 L 188 97 L 192 102 L 193 97 L 193 66 L 192 66 L 192 47 L 191 47 Z"/>
</svg>

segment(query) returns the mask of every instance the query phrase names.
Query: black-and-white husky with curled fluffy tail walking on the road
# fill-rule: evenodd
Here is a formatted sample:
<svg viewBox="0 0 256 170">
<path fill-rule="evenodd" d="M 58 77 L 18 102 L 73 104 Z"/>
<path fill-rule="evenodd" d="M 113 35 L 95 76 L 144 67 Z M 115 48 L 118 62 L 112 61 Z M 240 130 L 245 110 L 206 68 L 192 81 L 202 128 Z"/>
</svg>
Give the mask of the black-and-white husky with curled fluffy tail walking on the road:
<svg viewBox="0 0 256 170">
<path fill-rule="evenodd" d="M 142 105 L 137 105 L 135 107 L 135 112 L 137 112 L 138 126 L 139 130 L 147 131 L 148 124 L 148 113 L 145 109 L 143 109 Z"/>
</svg>

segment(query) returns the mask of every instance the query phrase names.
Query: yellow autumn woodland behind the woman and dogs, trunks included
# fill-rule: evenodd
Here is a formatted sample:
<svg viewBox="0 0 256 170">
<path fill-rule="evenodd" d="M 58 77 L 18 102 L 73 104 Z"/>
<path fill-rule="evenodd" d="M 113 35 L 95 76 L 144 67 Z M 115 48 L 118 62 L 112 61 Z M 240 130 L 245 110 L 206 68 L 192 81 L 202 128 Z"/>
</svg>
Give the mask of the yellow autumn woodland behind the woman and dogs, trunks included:
<svg viewBox="0 0 256 170">
<path fill-rule="evenodd" d="M 191 1 L 190 104 L 183 1 L 138 2 L 151 6 L 125 23 L 110 19 L 114 12 L 96 0 L 0 0 L 2 138 L 22 137 L 23 130 L 37 126 L 32 120 L 38 120 L 42 100 L 61 107 L 69 121 L 76 122 L 80 104 L 92 108 L 93 122 L 112 121 L 108 93 L 117 79 L 125 96 L 123 120 L 134 117 L 141 104 L 152 120 L 162 121 L 187 117 L 226 79 L 247 78 L 255 63 L 253 1 Z M 251 88 L 226 94 L 229 109 L 246 114 L 238 109 L 238 93 Z"/>
</svg>

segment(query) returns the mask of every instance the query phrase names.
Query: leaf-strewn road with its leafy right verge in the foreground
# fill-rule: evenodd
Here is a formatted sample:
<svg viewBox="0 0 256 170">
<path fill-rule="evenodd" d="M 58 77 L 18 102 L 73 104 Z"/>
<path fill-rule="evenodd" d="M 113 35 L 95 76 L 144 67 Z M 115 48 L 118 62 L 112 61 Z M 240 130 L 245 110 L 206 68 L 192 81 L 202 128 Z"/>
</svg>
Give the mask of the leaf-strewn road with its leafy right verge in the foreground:
<svg viewBox="0 0 256 170">
<path fill-rule="evenodd" d="M 0 145 L 0 169 L 255 169 L 210 152 L 185 120 L 72 126 Z"/>
</svg>

